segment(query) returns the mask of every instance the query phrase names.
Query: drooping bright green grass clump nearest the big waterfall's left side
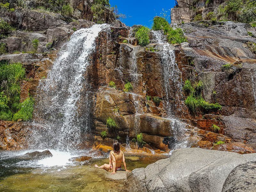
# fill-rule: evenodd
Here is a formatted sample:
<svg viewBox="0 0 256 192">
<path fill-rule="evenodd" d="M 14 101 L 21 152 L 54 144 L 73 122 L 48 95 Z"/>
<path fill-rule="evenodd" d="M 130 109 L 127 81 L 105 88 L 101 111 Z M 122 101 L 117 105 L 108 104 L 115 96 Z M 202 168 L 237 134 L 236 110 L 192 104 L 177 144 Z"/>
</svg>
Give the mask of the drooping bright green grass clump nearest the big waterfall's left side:
<svg viewBox="0 0 256 192">
<path fill-rule="evenodd" d="M 20 103 L 20 110 L 13 115 L 12 120 L 17 121 L 18 119 L 22 119 L 23 121 L 28 121 L 32 119 L 32 114 L 34 111 L 34 99 L 32 97 L 28 97 L 22 103 Z"/>
</svg>

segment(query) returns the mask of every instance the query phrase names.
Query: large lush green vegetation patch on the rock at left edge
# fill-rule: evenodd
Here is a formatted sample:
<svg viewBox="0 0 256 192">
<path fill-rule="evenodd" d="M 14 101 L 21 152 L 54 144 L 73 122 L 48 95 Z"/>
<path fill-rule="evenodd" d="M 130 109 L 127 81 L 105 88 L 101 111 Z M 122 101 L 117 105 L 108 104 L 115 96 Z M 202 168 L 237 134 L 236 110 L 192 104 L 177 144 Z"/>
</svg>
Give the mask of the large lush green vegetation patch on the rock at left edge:
<svg viewBox="0 0 256 192">
<path fill-rule="evenodd" d="M 0 120 L 28 121 L 32 118 L 33 98 L 28 97 L 20 103 L 20 82 L 25 76 L 21 63 L 0 62 Z"/>
</svg>

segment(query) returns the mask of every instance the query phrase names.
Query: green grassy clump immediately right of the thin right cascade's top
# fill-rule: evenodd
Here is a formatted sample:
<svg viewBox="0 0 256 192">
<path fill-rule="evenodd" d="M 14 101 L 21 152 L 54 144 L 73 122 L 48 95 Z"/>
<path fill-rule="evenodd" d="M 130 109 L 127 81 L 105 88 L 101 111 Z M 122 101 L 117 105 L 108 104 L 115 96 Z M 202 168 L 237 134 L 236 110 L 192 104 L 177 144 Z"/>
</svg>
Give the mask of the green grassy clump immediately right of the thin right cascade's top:
<svg viewBox="0 0 256 192">
<path fill-rule="evenodd" d="M 170 26 L 166 26 L 164 28 L 164 35 L 167 35 L 167 41 L 171 44 L 181 44 L 187 41 L 181 28 L 173 29 Z"/>
</svg>

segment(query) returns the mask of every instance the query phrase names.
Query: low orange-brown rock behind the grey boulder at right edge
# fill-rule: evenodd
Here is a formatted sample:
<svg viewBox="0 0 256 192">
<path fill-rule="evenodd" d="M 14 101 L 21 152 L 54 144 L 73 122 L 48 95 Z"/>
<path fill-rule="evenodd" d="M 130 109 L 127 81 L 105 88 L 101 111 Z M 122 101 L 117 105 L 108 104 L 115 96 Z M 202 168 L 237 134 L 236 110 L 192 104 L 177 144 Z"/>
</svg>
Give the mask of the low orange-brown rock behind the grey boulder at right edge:
<svg viewBox="0 0 256 192">
<path fill-rule="evenodd" d="M 220 144 L 220 145 L 214 146 L 213 149 L 219 150 L 219 151 L 230 151 L 230 152 L 235 152 L 239 154 L 256 153 L 256 151 L 252 149 L 250 146 L 241 142 Z"/>
</svg>

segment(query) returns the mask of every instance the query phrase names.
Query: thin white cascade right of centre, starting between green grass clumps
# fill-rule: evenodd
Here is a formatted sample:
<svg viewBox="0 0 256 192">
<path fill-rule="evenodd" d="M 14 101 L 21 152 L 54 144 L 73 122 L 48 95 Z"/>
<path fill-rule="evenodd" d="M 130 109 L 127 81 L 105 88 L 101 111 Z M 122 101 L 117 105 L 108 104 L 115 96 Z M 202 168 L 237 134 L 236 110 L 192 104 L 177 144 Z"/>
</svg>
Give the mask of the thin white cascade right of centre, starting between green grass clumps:
<svg viewBox="0 0 256 192">
<path fill-rule="evenodd" d="M 162 47 L 162 75 L 165 97 L 163 98 L 166 117 L 171 120 L 170 128 L 173 132 L 174 148 L 187 147 L 186 124 L 175 118 L 175 110 L 180 110 L 182 97 L 181 72 L 175 61 L 175 53 L 171 45 L 163 40 L 162 31 L 153 31 L 155 41 Z"/>
</svg>

